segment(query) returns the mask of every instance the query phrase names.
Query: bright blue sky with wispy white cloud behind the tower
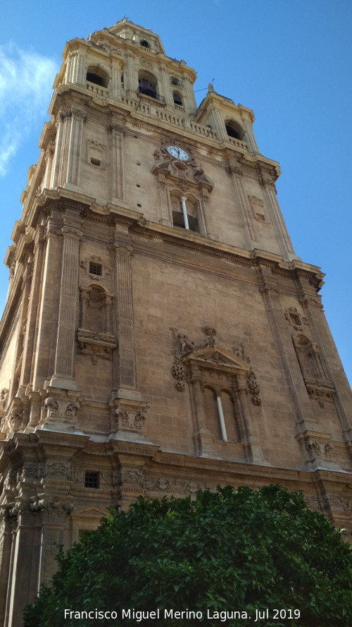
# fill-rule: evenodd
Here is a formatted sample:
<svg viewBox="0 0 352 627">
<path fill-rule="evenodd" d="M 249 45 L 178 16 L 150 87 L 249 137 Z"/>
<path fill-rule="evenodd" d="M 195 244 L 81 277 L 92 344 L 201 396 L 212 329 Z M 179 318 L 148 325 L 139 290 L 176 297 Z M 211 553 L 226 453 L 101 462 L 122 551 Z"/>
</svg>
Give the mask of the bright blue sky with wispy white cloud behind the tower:
<svg viewBox="0 0 352 627">
<path fill-rule="evenodd" d="M 4 257 L 65 41 L 126 16 L 166 54 L 253 109 L 259 150 L 279 162 L 279 204 L 296 253 L 326 273 L 325 312 L 352 381 L 350 0 L 17 0 L 1 7 L 0 255 Z M 202 91 L 204 90 L 204 91 Z M 7 269 L 0 269 L 0 309 Z"/>
</svg>

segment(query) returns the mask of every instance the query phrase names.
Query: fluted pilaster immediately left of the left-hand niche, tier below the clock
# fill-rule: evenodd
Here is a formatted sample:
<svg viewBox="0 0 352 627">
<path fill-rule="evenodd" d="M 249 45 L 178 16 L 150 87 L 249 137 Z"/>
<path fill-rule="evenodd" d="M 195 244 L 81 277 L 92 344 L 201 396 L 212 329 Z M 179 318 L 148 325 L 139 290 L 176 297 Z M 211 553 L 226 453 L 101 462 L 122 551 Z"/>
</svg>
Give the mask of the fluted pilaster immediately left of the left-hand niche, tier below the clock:
<svg viewBox="0 0 352 627">
<path fill-rule="evenodd" d="M 60 302 L 58 308 L 58 334 L 56 340 L 55 373 L 51 386 L 77 389 L 74 379 L 75 332 L 78 312 L 78 271 L 80 262 L 79 212 L 67 210 L 64 217 L 63 255 L 61 266 Z"/>
</svg>

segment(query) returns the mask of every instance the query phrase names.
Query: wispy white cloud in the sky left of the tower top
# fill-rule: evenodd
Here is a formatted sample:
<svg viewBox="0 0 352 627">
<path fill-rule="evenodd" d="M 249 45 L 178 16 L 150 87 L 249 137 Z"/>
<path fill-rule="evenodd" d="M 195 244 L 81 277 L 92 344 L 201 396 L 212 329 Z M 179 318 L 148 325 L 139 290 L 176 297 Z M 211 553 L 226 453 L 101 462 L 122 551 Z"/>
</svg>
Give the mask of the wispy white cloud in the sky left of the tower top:
<svg viewBox="0 0 352 627">
<path fill-rule="evenodd" d="M 56 63 L 15 44 L 0 46 L 0 176 L 50 101 Z"/>
</svg>

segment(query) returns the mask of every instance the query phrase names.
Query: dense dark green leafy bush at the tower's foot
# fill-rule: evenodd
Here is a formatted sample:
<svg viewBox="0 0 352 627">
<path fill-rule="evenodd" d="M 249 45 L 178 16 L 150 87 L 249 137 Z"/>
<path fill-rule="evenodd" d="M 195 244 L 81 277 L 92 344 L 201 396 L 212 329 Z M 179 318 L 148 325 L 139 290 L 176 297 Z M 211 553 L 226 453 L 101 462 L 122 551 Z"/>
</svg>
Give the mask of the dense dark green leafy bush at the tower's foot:
<svg viewBox="0 0 352 627">
<path fill-rule="evenodd" d="M 301 492 L 269 485 L 218 487 L 195 500 L 140 497 L 58 554 L 58 572 L 25 609 L 25 627 L 346 627 L 351 582 L 349 545 Z M 159 619 L 132 613 L 157 608 Z M 99 619 L 96 610 L 117 617 Z"/>
</svg>

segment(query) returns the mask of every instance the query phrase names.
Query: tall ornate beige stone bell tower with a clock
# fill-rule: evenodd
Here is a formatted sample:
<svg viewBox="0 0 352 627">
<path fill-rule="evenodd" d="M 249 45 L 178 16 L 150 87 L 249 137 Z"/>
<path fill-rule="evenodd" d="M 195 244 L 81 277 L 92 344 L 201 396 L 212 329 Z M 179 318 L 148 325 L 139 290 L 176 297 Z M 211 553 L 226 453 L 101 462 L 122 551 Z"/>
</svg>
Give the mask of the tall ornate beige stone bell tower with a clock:
<svg viewBox="0 0 352 627">
<path fill-rule="evenodd" d="M 279 482 L 352 528 L 351 391 L 253 113 L 150 30 L 65 45 L 6 253 L 0 621 L 138 494 Z"/>
</svg>

